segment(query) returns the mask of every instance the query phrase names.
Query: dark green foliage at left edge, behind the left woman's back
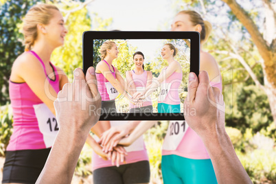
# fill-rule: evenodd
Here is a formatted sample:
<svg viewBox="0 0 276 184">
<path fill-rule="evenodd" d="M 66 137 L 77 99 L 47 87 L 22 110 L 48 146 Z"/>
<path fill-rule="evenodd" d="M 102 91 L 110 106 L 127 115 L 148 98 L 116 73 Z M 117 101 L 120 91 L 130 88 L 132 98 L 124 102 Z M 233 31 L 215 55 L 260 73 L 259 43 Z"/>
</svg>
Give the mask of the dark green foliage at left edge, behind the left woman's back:
<svg viewBox="0 0 276 184">
<path fill-rule="evenodd" d="M 10 101 L 9 78 L 14 60 L 24 51 L 19 25 L 27 11 L 39 0 L 1 1 L 0 8 L 0 106 Z M 42 1 L 44 2 L 44 1 Z"/>
</svg>

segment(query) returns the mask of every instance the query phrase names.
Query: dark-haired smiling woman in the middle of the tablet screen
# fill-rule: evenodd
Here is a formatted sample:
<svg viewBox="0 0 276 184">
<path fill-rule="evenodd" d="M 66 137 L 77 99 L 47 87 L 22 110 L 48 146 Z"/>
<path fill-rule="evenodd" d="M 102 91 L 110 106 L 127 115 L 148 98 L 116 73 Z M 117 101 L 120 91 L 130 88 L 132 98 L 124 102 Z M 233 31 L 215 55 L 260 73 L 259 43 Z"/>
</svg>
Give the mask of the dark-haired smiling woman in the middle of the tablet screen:
<svg viewBox="0 0 276 184">
<path fill-rule="evenodd" d="M 130 95 L 133 95 L 137 91 L 145 91 L 152 83 L 152 72 L 145 71 L 143 61 L 145 57 L 141 51 L 133 54 L 133 61 L 135 63 L 135 69 L 126 71 L 126 82 L 128 84 L 128 91 Z M 132 103 L 129 104 L 130 113 L 152 113 L 152 100 L 148 96 L 142 106 L 137 106 Z"/>
</svg>

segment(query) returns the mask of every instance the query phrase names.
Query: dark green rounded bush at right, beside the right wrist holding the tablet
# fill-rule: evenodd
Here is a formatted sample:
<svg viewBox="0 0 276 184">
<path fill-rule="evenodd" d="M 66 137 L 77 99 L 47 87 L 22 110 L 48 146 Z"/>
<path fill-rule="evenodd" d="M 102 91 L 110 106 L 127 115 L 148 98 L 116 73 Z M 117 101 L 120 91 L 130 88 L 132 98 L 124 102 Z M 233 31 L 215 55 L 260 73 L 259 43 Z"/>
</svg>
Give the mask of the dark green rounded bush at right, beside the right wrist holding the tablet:
<svg viewBox="0 0 276 184">
<path fill-rule="evenodd" d="M 238 87 L 233 99 L 236 102 L 233 113 L 226 118 L 227 126 L 238 128 L 242 133 L 246 128 L 252 128 L 253 134 L 266 129 L 273 123 L 266 94 L 253 85 Z M 275 129 L 271 133 L 275 133 Z"/>
</svg>

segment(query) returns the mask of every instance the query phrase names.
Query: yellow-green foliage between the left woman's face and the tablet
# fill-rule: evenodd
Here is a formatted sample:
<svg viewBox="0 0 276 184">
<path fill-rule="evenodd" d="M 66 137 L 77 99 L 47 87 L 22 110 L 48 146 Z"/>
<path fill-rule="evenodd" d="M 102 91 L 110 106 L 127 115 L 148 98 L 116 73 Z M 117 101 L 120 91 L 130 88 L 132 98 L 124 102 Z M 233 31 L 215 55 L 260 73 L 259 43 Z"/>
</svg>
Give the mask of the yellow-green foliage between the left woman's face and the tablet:
<svg viewBox="0 0 276 184">
<path fill-rule="evenodd" d="M 78 7 L 78 3 L 69 1 L 67 4 L 56 4 L 58 8 L 71 10 Z M 65 14 L 63 14 L 65 16 Z M 51 61 L 67 73 L 69 80 L 73 79 L 73 70 L 82 67 L 82 33 L 90 30 L 91 19 L 87 8 L 82 8 L 69 15 L 66 26 L 68 33 L 65 44 L 58 47 L 51 54 Z"/>
</svg>

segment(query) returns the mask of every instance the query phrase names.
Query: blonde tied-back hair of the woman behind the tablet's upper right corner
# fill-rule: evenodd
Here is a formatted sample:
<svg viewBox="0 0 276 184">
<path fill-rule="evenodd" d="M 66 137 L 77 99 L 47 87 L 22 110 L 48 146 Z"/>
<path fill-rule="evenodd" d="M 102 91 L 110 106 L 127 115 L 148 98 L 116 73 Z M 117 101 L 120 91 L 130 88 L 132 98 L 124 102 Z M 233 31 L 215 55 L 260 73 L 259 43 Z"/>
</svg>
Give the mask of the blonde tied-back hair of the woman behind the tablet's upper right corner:
<svg viewBox="0 0 276 184">
<path fill-rule="evenodd" d="M 211 34 L 211 23 L 208 21 L 203 21 L 203 18 L 200 16 L 200 14 L 193 10 L 183 10 L 176 15 L 179 14 L 189 14 L 189 21 L 191 21 L 193 25 L 201 25 L 202 30 L 200 32 L 200 43 L 205 43 Z"/>
</svg>

